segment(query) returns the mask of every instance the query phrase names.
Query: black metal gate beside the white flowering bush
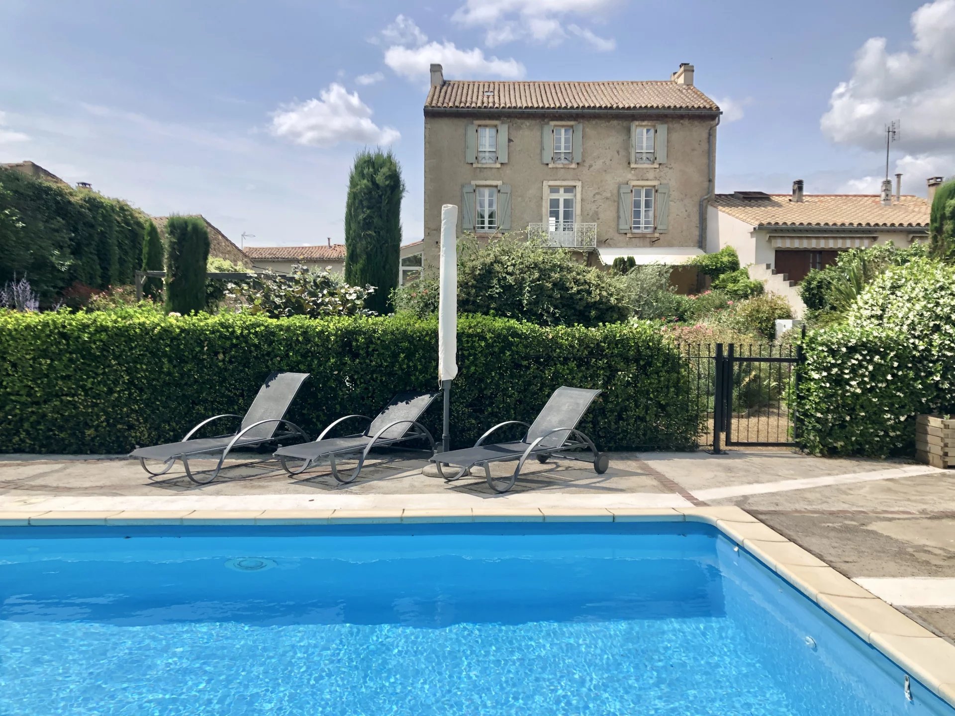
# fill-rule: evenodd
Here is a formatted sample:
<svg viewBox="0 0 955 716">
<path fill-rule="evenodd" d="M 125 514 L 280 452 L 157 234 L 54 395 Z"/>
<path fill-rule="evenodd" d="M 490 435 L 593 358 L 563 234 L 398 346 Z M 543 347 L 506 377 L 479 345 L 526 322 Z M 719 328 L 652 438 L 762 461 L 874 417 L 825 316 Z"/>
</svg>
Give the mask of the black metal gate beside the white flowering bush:
<svg viewBox="0 0 955 716">
<path fill-rule="evenodd" d="M 716 344 L 713 358 L 712 452 L 796 445 L 792 405 L 802 346 Z"/>
</svg>

